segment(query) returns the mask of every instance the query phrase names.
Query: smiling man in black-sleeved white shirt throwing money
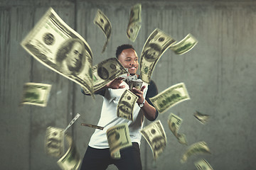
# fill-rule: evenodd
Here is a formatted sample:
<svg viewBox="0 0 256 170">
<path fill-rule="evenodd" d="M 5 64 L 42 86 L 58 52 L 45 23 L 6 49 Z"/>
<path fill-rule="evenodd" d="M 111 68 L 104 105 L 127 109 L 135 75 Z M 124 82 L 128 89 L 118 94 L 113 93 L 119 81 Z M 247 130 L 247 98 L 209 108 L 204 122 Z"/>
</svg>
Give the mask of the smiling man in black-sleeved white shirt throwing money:
<svg viewBox="0 0 256 170">
<path fill-rule="evenodd" d="M 128 69 L 129 74 L 137 75 L 139 67 L 138 56 L 132 45 L 121 45 L 117 47 L 116 57 L 119 62 Z M 138 76 L 138 75 L 137 75 Z M 139 78 L 139 76 L 138 76 Z M 114 164 L 119 170 L 141 170 L 142 162 L 140 158 L 139 145 L 142 135 L 140 130 L 144 123 L 144 116 L 151 121 L 156 120 L 158 112 L 149 101 L 149 98 L 156 96 L 157 88 L 153 81 L 149 85 L 143 83 L 142 89 L 132 89 L 132 92 L 138 96 L 137 103 L 134 106 L 133 121 L 117 117 L 117 104 L 122 93 L 129 86 L 122 78 L 110 81 L 100 91 L 103 97 L 102 112 L 97 125 L 105 127 L 103 130 L 95 130 L 90 138 L 89 146 L 82 160 L 81 170 L 85 169 L 107 169 L 107 166 Z M 82 91 L 83 92 L 83 91 Z M 112 159 L 110 157 L 110 148 L 107 142 L 107 129 L 120 123 L 127 123 L 129 135 L 132 141 L 132 147 L 120 150 L 121 158 Z"/>
</svg>

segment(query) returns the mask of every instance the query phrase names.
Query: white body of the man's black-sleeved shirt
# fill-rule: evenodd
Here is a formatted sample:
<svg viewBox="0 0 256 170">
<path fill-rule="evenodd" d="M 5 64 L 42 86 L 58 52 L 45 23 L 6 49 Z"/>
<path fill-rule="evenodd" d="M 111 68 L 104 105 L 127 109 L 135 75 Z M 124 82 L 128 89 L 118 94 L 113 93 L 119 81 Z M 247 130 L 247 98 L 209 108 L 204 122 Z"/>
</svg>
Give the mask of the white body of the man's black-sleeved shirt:
<svg viewBox="0 0 256 170">
<path fill-rule="evenodd" d="M 117 117 L 117 105 L 119 98 L 122 96 L 126 89 L 129 89 L 129 86 L 126 82 L 122 82 L 120 86 L 125 85 L 124 89 L 106 89 L 105 96 L 103 96 L 102 111 L 100 115 L 98 126 L 104 127 L 103 130 L 96 129 L 90 138 L 89 146 L 97 149 L 109 148 L 107 142 L 107 129 L 113 127 L 114 125 L 119 125 L 121 123 L 127 123 L 129 127 L 129 135 L 132 142 L 138 142 L 142 138 L 142 134 L 139 130 L 142 129 L 144 123 L 144 114 L 142 113 L 141 108 L 137 103 L 134 104 L 133 111 L 133 121 L 127 120 L 125 118 Z M 144 89 L 144 98 L 146 98 L 146 92 L 148 90 L 148 85 L 143 82 L 142 86 L 146 86 Z"/>
</svg>

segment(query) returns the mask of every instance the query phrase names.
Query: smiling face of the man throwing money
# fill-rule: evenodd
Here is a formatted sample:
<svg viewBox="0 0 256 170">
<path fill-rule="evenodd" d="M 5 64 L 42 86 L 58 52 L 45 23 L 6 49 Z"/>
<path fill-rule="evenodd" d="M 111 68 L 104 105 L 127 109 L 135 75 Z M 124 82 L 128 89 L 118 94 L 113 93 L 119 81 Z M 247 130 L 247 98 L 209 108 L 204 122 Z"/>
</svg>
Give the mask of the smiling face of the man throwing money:
<svg viewBox="0 0 256 170">
<path fill-rule="evenodd" d="M 118 56 L 118 60 L 124 68 L 128 69 L 129 74 L 136 74 L 139 62 L 137 53 L 132 48 L 122 50 L 121 54 Z"/>
</svg>

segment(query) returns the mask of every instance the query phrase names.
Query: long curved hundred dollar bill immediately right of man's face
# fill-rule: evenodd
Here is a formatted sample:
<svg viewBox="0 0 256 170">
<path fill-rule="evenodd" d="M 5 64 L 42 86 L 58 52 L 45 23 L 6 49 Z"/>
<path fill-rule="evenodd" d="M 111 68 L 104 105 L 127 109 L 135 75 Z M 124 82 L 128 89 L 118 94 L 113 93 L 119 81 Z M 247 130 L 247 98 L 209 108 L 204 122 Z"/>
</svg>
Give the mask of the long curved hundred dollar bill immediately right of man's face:
<svg viewBox="0 0 256 170">
<path fill-rule="evenodd" d="M 140 60 L 140 76 L 143 81 L 149 84 L 151 74 L 161 55 L 173 44 L 175 40 L 171 36 L 156 28 L 149 36 L 142 49 Z"/>
</svg>

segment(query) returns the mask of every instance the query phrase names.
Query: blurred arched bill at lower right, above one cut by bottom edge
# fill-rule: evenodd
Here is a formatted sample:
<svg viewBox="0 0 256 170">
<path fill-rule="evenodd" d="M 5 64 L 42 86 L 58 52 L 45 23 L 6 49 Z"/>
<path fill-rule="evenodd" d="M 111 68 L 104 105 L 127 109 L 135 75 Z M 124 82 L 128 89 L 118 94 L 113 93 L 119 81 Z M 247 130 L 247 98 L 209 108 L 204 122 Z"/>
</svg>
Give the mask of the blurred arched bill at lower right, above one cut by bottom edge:
<svg viewBox="0 0 256 170">
<path fill-rule="evenodd" d="M 181 158 L 181 163 L 184 163 L 188 160 L 188 157 L 190 157 L 193 154 L 210 154 L 210 149 L 208 148 L 206 142 L 197 142 L 193 145 L 189 146 L 186 150 L 185 154 L 183 154 Z"/>
</svg>

